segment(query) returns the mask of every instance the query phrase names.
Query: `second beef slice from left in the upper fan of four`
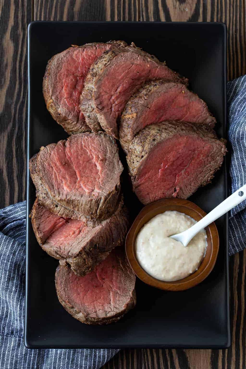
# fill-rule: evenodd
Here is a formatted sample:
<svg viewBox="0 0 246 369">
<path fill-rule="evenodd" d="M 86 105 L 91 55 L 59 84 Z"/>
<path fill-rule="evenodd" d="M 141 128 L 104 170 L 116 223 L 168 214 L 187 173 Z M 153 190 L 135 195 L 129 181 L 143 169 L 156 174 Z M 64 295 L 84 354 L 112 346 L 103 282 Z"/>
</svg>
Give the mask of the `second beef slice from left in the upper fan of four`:
<svg viewBox="0 0 246 369">
<path fill-rule="evenodd" d="M 81 94 L 80 109 L 93 131 L 104 129 L 118 138 L 117 120 L 129 98 L 153 79 L 187 80 L 165 63 L 135 46 L 106 51 L 91 66 Z"/>
</svg>

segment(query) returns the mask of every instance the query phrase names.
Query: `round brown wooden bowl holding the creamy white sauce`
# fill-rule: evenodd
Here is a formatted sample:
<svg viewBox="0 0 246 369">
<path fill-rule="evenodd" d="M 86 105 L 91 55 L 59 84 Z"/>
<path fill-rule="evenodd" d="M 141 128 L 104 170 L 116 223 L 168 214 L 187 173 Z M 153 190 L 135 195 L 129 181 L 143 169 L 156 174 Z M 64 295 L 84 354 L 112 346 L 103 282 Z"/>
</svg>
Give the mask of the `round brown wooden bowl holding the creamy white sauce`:
<svg viewBox="0 0 246 369">
<path fill-rule="evenodd" d="M 164 213 L 164 211 L 167 210 L 176 210 L 180 213 L 187 214 L 196 221 L 200 220 L 206 215 L 205 211 L 188 200 L 171 198 L 155 201 L 154 203 L 145 206 L 136 217 L 131 229 L 127 234 L 125 249 L 132 270 L 144 283 L 162 290 L 183 291 L 202 282 L 214 268 L 219 251 L 219 235 L 215 223 L 211 223 L 205 228 L 207 232 L 207 251 L 204 259 L 201 262 L 201 265 L 194 273 L 186 278 L 174 282 L 164 282 L 158 280 L 146 273 L 145 270 L 143 270 L 143 268 L 139 265 L 136 259 L 135 240 L 138 232 L 145 223 L 147 223 L 157 214 Z"/>
</svg>

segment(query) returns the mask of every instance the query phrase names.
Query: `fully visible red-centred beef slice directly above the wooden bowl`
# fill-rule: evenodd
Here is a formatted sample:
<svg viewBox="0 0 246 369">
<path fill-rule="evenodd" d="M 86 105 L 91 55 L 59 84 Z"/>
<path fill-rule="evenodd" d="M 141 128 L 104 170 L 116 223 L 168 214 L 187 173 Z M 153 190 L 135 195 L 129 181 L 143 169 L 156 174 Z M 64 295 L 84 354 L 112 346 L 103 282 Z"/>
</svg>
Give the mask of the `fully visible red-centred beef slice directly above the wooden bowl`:
<svg viewBox="0 0 246 369">
<path fill-rule="evenodd" d="M 129 146 L 127 162 L 135 194 L 143 204 L 187 199 L 210 182 L 226 153 L 208 126 L 185 122 L 151 124 Z"/>
</svg>

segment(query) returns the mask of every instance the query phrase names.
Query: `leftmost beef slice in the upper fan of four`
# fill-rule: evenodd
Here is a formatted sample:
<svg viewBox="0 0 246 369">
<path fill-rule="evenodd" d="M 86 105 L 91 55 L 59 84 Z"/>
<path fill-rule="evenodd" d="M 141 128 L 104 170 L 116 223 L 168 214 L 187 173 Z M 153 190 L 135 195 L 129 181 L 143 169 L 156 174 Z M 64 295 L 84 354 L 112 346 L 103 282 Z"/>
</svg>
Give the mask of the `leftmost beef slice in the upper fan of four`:
<svg viewBox="0 0 246 369">
<path fill-rule="evenodd" d="M 45 103 L 52 117 L 67 133 L 91 131 L 79 108 L 84 78 L 91 64 L 104 51 L 125 45 L 124 41 L 72 45 L 48 61 L 43 80 Z"/>
</svg>

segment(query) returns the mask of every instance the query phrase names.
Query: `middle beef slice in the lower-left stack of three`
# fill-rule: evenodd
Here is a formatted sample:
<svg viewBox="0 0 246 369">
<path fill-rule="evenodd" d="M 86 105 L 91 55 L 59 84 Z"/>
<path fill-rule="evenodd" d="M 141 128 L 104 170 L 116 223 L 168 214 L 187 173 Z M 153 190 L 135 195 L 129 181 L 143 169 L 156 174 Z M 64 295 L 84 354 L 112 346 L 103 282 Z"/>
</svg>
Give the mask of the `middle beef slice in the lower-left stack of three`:
<svg viewBox="0 0 246 369">
<path fill-rule="evenodd" d="M 90 273 L 114 247 L 122 245 L 129 226 L 123 200 L 110 218 L 96 225 L 52 214 L 37 199 L 30 217 L 42 249 L 61 264 L 69 263 L 79 276 Z"/>
</svg>

